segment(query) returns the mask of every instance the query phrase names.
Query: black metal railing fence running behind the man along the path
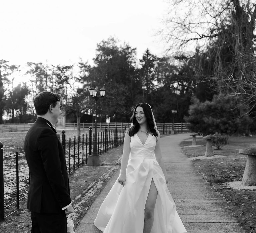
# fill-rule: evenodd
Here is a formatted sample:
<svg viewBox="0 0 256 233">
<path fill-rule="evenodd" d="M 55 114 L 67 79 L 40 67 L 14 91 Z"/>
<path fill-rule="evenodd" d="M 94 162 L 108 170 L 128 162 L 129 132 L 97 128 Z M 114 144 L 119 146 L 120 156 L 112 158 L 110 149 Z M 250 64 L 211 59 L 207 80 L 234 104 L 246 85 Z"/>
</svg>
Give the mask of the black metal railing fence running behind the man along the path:
<svg viewBox="0 0 256 233">
<path fill-rule="evenodd" d="M 117 128 L 108 130 L 107 127 L 105 131 L 98 132 L 96 136 L 99 155 L 122 145 L 124 132 Z M 61 143 L 69 174 L 87 164 L 87 156 L 92 154 L 93 138 L 92 127 L 89 127 L 89 135 L 86 133 L 68 139 L 65 130 L 62 130 Z M 3 143 L 0 142 L 0 220 L 2 221 L 19 210 L 19 203 L 27 197 L 29 187 L 29 169 L 25 153 L 16 152 L 8 156 L 3 156 L 3 153 Z"/>
</svg>

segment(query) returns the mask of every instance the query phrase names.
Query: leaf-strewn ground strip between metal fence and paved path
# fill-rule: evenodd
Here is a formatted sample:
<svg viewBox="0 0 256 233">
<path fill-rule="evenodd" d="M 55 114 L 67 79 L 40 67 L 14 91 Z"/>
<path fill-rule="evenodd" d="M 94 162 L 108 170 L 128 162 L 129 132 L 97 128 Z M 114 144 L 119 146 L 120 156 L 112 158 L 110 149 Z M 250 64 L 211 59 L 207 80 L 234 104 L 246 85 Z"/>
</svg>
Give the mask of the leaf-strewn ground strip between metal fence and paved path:
<svg viewBox="0 0 256 233">
<path fill-rule="evenodd" d="M 102 166 L 81 166 L 69 175 L 70 195 L 74 213 L 74 225 L 81 221 L 94 199 L 105 187 L 106 181 L 120 165 L 123 147 L 114 148 L 101 155 Z M 20 210 L 0 223 L 0 233 L 31 232 L 30 212 L 27 210 L 27 199 L 20 202 Z"/>
</svg>

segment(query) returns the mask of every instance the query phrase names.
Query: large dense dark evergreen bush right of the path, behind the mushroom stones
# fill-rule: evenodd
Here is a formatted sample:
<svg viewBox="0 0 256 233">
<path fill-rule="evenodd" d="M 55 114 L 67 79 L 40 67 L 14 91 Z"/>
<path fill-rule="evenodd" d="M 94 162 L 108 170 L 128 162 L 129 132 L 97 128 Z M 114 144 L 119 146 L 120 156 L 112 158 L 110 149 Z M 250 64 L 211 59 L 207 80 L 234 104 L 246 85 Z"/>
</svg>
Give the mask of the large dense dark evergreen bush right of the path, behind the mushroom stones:
<svg viewBox="0 0 256 233">
<path fill-rule="evenodd" d="M 193 98 L 189 107 L 189 116 L 184 119 L 190 123 L 189 129 L 199 134 L 208 135 L 218 132 L 233 134 L 245 121 L 240 117 L 239 101 L 232 96 L 214 96 L 212 101 L 200 102 Z"/>
</svg>

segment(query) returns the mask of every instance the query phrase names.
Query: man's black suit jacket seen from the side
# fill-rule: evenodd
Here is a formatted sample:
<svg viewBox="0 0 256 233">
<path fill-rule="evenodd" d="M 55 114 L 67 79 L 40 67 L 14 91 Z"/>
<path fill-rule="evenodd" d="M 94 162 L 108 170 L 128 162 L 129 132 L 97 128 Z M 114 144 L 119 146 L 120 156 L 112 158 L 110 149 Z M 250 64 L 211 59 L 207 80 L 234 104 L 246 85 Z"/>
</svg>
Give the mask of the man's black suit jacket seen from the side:
<svg viewBox="0 0 256 233">
<path fill-rule="evenodd" d="M 59 213 L 71 203 L 65 153 L 51 123 L 37 117 L 24 141 L 30 172 L 28 209 Z"/>
</svg>

